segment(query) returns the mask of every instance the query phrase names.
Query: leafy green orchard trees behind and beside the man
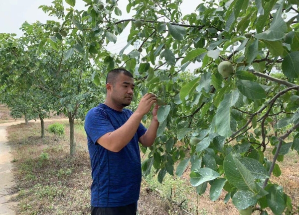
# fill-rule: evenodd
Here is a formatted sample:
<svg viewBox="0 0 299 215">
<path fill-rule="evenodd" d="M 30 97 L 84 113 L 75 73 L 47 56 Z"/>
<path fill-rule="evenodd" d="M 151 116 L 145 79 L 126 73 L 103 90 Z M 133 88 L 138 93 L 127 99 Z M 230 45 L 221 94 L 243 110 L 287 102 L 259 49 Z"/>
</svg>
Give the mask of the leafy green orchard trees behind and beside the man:
<svg viewBox="0 0 299 215">
<path fill-rule="evenodd" d="M 145 174 L 153 167 L 162 182 L 190 166 L 190 183 L 198 194 L 209 183 L 212 201 L 224 189 L 240 213 L 291 214 L 290 197 L 270 177 L 299 151 L 299 0 L 206 0 L 184 16 L 182 0 L 129 0 L 126 10 L 117 0 L 84 1 L 79 11 L 76 0 L 54 0 L 41 8 L 58 21 L 24 23 L 21 38 L 0 35 L 2 102 L 62 111 L 73 131 L 79 109 L 84 116 L 104 97 L 103 74 L 125 67 L 137 97 L 150 91 L 164 100 Z M 125 28 L 128 44 L 109 52 Z M 233 65 L 228 78 L 217 70 L 222 61 Z M 193 63 L 198 69 L 188 71 Z"/>
</svg>

